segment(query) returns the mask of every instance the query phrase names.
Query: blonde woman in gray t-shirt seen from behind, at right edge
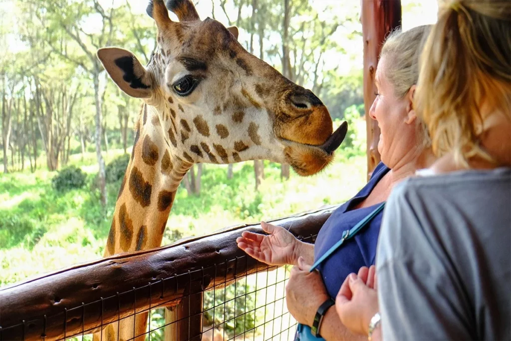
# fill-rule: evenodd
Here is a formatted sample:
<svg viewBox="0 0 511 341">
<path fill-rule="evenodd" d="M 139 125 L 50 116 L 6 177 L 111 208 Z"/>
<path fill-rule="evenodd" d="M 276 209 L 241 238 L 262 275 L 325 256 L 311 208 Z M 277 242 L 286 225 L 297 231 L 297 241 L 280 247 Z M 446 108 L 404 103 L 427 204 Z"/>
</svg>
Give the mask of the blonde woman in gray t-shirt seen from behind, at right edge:
<svg viewBox="0 0 511 341">
<path fill-rule="evenodd" d="M 509 340 L 509 0 L 440 3 L 415 104 L 439 158 L 394 188 L 378 241 L 378 283 L 374 267 L 351 274 L 336 310 L 352 331 L 374 338 Z"/>
</svg>

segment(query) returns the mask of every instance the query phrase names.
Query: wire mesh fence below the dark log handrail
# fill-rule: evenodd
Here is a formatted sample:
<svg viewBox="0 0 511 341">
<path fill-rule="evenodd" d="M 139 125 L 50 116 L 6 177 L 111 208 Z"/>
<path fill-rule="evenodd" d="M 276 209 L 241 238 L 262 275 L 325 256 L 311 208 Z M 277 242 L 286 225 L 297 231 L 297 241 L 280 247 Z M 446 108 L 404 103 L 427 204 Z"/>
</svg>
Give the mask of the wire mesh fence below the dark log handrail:
<svg viewBox="0 0 511 341">
<path fill-rule="evenodd" d="M 315 236 L 305 238 L 308 242 L 314 239 Z M 84 302 L 51 316 L 44 314 L 42 319 L 23 320 L 14 326 L 0 327 L 0 340 L 92 340 L 92 333 L 108 328 L 117 329 L 113 339 L 120 340 L 120 326 L 127 327 L 116 322 L 128 321 L 133 316 L 140 319 L 144 314 L 149 314 L 146 331 L 136 334 L 135 319 L 131 319 L 132 336 L 122 338 L 123 341 L 293 339 L 296 321 L 287 311 L 285 300 L 290 266 L 270 267 L 258 263 L 249 272 L 250 261 L 253 260 L 247 256 L 239 256 L 117 292 L 111 297 Z M 166 294 L 169 289 L 172 289 L 172 295 Z M 149 301 L 149 304 L 141 308 L 142 301 Z M 101 306 L 99 316 L 98 304 Z M 107 310 L 115 306 L 117 316 L 106 319 L 106 315 L 112 316 L 111 311 L 106 314 Z M 121 308 L 127 306 L 131 309 Z M 173 319 L 166 320 L 166 314 L 171 314 Z M 50 324 L 54 330 L 55 326 L 58 327 L 58 333 L 47 335 Z M 36 329 L 42 332 L 33 333 Z M 95 341 L 113 341 L 111 335 L 98 335 L 99 339 L 95 338 Z"/>
</svg>

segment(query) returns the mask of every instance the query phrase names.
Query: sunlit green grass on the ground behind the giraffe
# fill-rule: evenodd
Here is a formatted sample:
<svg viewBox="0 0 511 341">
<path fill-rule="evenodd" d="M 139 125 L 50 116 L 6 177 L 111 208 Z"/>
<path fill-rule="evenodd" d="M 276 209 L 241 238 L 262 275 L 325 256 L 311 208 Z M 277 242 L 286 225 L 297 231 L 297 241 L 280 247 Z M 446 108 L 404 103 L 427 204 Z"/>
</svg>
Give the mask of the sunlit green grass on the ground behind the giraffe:
<svg viewBox="0 0 511 341">
<path fill-rule="evenodd" d="M 201 195 L 176 194 L 163 243 L 181 236 L 203 235 L 225 226 L 257 222 L 341 203 L 366 181 L 365 122 L 356 124 L 355 147 L 337 153 L 320 174 L 280 179 L 280 165 L 265 162 L 265 180 L 254 190 L 252 162 L 234 165 L 226 178 L 226 165 L 203 165 Z M 342 147 L 341 147 L 342 148 Z M 128 150 L 128 152 L 130 152 Z M 105 153 L 106 162 L 122 150 Z M 70 156 L 69 164 L 87 173 L 86 185 L 60 193 L 52 188 L 56 172 L 0 175 L 0 286 L 42 272 L 101 258 L 121 181 L 107 184 L 108 208 L 103 215 L 95 188 L 96 155 Z M 172 226 L 172 228 L 170 227 Z"/>
</svg>

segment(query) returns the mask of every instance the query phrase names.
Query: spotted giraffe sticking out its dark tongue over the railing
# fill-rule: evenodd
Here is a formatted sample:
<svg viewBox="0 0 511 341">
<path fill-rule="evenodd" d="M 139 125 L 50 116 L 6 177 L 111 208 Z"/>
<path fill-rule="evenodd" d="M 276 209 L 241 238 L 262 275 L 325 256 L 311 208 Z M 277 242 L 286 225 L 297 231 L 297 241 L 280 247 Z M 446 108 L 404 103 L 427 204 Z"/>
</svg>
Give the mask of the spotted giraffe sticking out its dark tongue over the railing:
<svg viewBox="0 0 511 341">
<path fill-rule="evenodd" d="M 194 163 L 265 159 L 307 176 L 332 161 L 347 129 L 343 123 L 333 132 L 329 111 L 310 90 L 249 54 L 236 27 L 200 20 L 190 0 L 151 0 L 147 13 L 157 47 L 145 67 L 120 48 L 97 52 L 119 88 L 143 102 L 105 257 L 160 246 L 179 183 Z M 94 339 L 144 340 L 147 313 L 137 314 L 136 324 L 133 318 Z"/>
</svg>

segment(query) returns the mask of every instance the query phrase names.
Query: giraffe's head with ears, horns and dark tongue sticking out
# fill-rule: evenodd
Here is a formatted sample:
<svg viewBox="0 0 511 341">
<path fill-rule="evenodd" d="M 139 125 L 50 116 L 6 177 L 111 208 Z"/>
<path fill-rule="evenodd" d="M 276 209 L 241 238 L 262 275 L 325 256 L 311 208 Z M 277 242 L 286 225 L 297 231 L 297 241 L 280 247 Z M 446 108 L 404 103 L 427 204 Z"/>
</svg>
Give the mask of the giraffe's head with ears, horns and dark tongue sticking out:
<svg viewBox="0 0 511 341">
<path fill-rule="evenodd" d="M 243 49 L 237 28 L 200 20 L 189 0 L 167 7 L 152 0 L 147 8 L 158 32 L 146 67 L 129 51 L 98 51 L 112 80 L 149 106 L 144 124 L 153 116 L 165 132 L 166 146 L 158 147 L 190 163 L 265 159 L 300 175 L 329 164 L 346 123 L 333 132 L 323 103 Z"/>
</svg>

